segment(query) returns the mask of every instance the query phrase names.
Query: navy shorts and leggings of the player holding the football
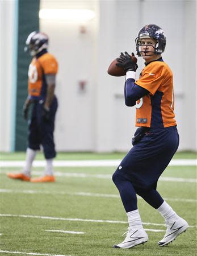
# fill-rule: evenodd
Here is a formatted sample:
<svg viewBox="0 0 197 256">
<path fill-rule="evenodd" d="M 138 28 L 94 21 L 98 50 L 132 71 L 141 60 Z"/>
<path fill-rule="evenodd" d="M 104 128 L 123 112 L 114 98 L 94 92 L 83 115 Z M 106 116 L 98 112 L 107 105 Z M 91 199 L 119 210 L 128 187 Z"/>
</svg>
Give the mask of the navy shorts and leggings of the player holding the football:
<svg viewBox="0 0 197 256">
<path fill-rule="evenodd" d="M 136 194 L 157 209 L 164 199 L 157 192 L 157 181 L 177 151 L 177 127 L 150 129 L 131 148 L 112 176 L 126 212 L 137 209 Z"/>
</svg>

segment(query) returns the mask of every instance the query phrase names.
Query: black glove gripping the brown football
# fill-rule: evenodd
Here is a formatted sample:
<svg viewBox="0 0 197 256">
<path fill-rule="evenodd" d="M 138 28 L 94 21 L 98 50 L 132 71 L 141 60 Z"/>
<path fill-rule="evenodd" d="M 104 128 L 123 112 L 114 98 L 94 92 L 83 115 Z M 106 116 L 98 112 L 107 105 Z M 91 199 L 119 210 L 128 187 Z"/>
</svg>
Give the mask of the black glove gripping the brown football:
<svg viewBox="0 0 197 256">
<path fill-rule="evenodd" d="M 117 67 L 123 68 L 126 72 L 127 71 L 136 71 L 138 68 L 137 59 L 134 53 L 131 53 L 132 57 L 128 55 L 128 52 L 121 52 L 120 57 L 116 59 L 118 63 L 116 63 Z"/>
</svg>

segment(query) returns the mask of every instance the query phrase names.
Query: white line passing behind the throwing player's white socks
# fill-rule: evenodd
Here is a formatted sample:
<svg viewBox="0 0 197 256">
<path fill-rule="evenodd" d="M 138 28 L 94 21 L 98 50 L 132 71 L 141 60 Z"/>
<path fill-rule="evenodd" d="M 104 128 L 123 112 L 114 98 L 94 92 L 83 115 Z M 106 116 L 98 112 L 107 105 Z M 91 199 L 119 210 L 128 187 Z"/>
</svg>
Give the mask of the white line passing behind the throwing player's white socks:
<svg viewBox="0 0 197 256">
<path fill-rule="evenodd" d="M 36 215 L 18 215 L 18 214 L 0 214 L 0 217 L 21 217 L 21 218 L 41 218 L 47 220 L 60 220 L 60 221 L 85 221 L 85 222 L 100 222 L 100 223 L 114 223 L 114 224 L 128 224 L 127 221 L 116 220 L 90 220 L 86 218 L 62 218 L 62 217 L 49 217 L 49 216 L 36 216 Z M 143 222 L 144 225 L 152 226 L 165 226 L 165 224 Z M 196 226 L 190 226 L 190 228 L 196 228 Z"/>
</svg>

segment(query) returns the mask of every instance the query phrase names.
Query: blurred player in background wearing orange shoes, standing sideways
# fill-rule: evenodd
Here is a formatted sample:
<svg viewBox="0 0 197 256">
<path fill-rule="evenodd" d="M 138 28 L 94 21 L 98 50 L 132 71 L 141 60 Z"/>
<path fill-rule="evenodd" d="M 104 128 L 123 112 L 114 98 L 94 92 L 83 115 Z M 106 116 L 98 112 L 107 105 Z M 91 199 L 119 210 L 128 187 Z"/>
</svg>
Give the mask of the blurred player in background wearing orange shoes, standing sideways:
<svg viewBox="0 0 197 256">
<path fill-rule="evenodd" d="M 12 179 L 32 182 L 53 182 L 53 158 L 56 156 L 53 132 L 57 98 L 55 96 L 55 80 L 58 70 L 56 58 L 48 53 L 48 36 L 34 31 L 27 40 L 24 51 L 33 56 L 28 70 L 28 97 L 24 102 L 23 115 L 28 119 L 28 110 L 32 105 L 31 119 L 28 125 L 28 147 L 26 163 L 19 174 L 8 174 Z M 37 150 L 43 147 L 46 159 L 44 176 L 31 179 L 32 162 Z"/>
</svg>

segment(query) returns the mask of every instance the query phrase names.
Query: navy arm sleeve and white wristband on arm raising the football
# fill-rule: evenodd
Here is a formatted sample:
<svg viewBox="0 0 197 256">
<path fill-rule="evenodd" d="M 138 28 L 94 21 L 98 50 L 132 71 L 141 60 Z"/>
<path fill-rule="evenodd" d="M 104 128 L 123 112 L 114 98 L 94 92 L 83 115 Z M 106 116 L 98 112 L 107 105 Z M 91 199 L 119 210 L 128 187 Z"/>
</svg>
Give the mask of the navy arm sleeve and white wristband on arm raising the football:
<svg viewBox="0 0 197 256">
<path fill-rule="evenodd" d="M 128 77 L 128 78 L 127 78 Z M 126 76 L 126 81 L 124 84 L 124 100 L 125 105 L 127 106 L 135 106 L 136 101 L 141 97 L 149 94 L 149 91 L 142 88 L 139 85 L 135 84 L 135 79 L 131 76 Z"/>
</svg>

